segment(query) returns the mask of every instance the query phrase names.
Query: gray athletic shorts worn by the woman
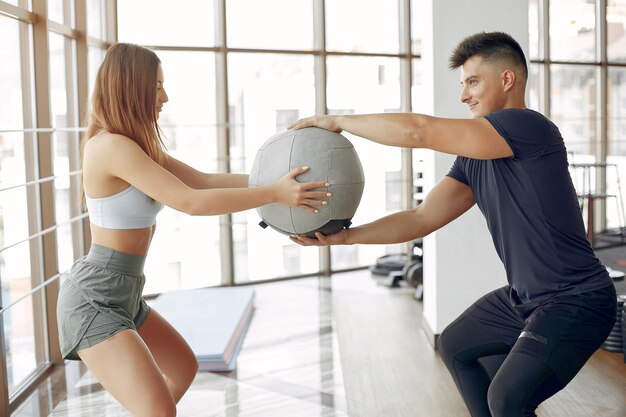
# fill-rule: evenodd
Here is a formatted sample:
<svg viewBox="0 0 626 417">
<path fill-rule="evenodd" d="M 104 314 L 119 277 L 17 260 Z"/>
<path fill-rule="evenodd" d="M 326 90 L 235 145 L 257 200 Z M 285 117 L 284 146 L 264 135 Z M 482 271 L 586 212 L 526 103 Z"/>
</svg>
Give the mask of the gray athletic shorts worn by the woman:
<svg viewBox="0 0 626 417">
<path fill-rule="evenodd" d="M 61 286 L 57 321 L 61 354 L 80 360 L 77 351 L 114 334 L 137 330 L 150 308 L 141 297 L 145 256 L 92 245 L 77 260 Z"/>
</svg>

